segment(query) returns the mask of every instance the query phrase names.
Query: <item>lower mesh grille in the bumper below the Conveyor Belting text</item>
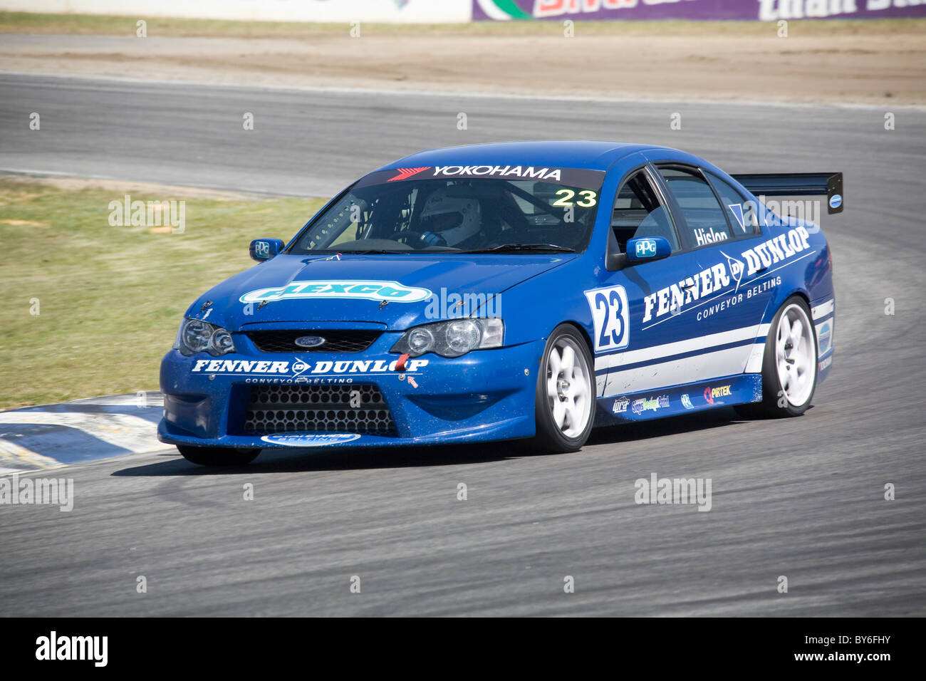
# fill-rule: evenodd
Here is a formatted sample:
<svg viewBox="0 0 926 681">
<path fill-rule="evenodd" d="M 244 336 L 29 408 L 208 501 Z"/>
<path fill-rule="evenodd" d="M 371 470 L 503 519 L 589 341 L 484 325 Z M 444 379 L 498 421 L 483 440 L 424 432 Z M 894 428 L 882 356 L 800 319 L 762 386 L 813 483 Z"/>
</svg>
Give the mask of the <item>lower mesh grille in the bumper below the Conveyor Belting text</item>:
<svg viewBox="0 0 926 681">
<path fill-rule="evenodd" d="M 255 385 L 244 432 L 395 435 L 389 406 L 375 385 Z"/>
</svg>

